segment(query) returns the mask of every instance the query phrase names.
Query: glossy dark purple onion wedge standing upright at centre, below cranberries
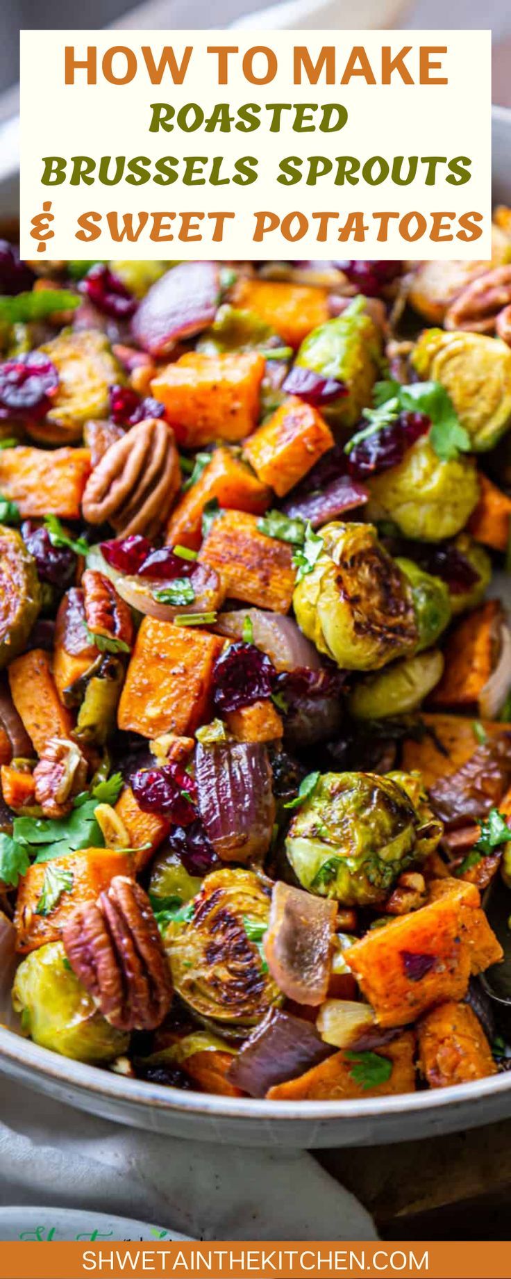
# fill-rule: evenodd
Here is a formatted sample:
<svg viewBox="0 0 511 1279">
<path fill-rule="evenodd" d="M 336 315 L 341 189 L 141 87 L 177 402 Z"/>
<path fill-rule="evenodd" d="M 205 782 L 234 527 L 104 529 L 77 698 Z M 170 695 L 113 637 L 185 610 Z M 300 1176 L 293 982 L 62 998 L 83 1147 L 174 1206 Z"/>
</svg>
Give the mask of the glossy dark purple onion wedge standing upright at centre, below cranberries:
<svg viewBox="0 0 511 1279">
<path fill-rule="evenodd" d="M 198 811 L 216 854 L 225 862 L 263 857 L 275 822 L 272 771 L 261 742 L 197 747 Z"/>
</svg>

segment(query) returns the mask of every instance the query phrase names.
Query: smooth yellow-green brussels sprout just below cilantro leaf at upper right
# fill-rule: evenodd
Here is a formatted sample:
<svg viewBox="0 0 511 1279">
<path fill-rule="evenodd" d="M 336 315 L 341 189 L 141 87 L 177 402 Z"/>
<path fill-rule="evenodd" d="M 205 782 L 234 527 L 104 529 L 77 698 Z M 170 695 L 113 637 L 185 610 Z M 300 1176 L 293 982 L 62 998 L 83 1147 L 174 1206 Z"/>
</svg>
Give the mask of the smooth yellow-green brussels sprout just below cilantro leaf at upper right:
<svg viewBox="0 0 511 1279">
<path fill-rule="evenodd" d="M 479 500 L 475 462 L 466 454 L 442 462 L 427 436 L 397 467 L 367 481 L 370 519 L 390 519 L 405 537 L 439 542 L 455 537 Z"/>
</svg>

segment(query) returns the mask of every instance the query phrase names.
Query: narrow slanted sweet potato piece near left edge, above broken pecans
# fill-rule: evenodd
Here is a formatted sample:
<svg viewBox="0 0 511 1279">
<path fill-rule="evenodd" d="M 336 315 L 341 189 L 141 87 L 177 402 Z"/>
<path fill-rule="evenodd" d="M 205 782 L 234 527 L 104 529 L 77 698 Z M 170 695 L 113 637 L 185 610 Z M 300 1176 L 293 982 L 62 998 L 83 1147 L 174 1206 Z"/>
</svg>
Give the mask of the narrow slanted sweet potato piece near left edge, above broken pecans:
<svg viewBox="0 0 511 1279">
<path fill-rule="evenodd" d="M 32 648 L 9 666 L 10 693 L 37 755 L 50 737 L 69 737 L 73 718 L 63 706 L 43 648 Z"/>
</svg>

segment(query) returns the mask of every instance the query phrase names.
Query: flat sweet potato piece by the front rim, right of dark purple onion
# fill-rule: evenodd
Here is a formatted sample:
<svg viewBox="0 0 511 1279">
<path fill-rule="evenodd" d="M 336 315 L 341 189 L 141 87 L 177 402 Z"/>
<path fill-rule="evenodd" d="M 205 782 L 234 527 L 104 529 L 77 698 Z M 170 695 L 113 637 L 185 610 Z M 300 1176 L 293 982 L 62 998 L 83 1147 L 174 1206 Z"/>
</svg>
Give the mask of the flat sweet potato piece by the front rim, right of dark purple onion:
<svg viewBox="0 0 511 1279">
<path fill-rule="evenodd" d="M 399 1092 L 415 1091 L 415 1036 L 405 1031 L 390 1044 L 378 1048 L 374 1056 L 392 1063 L 392 1071 L 382 1071 L 381 1083 L 370 1086 L 378 1077 L 377 1063 L 368 1063 L 369 1054 L 333 1053 L 319 1065 L 313 1065 L 298 1079 L 276 1083 L 267 1092 L 272 1101 L 344 1101 L 356 1097 L 386 1097 Z M 373 1056 L 373 1054 L 370 1054 Z M 362 1064 L 362 1069 L 360 1069 Z M 365 1067 L 365 1068 L 364 1068 Z"/>
</svg>

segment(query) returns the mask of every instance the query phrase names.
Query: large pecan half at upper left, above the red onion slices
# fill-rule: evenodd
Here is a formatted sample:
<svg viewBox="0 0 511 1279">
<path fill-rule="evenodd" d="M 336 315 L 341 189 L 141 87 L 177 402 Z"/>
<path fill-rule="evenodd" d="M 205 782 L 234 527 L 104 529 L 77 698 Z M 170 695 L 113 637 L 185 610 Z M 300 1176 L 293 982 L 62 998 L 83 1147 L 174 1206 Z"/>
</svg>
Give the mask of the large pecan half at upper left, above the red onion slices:
<svg viewBox="0 0 511 1279">
<path fill-rule="evenodd" d="M 110 445 L 92 471 L 82 510 L 89 524 L 109 521 L 118 533 L 155 537 L 180 487 L 174 432 L 149 417 Z"/>
</svg>

